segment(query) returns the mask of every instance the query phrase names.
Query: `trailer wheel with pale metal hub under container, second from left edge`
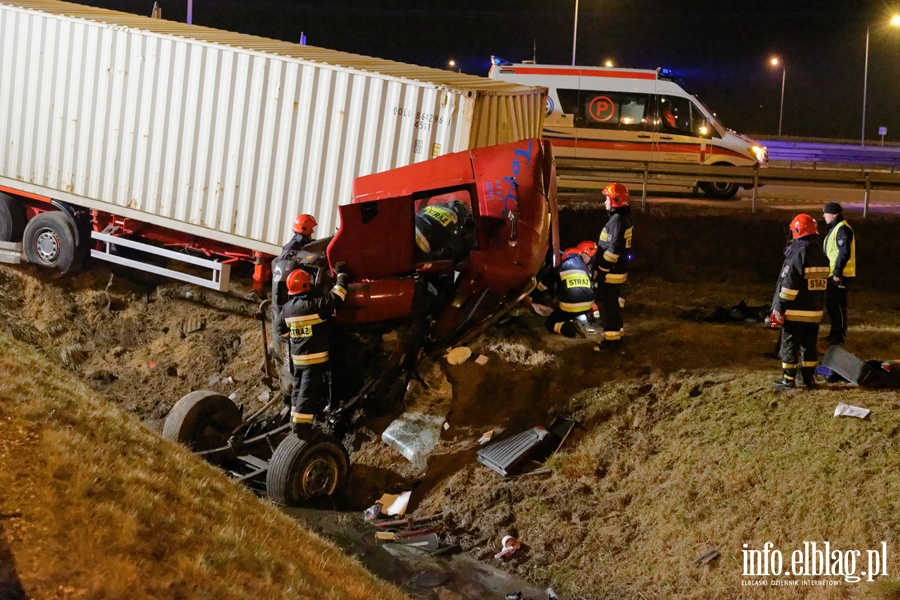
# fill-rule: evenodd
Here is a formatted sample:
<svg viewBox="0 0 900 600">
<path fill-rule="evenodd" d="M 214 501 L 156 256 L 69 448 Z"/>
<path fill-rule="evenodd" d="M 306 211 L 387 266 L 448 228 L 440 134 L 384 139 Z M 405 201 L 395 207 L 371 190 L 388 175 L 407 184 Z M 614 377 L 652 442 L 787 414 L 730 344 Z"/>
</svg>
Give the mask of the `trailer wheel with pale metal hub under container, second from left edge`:
<svg viewBox="0 0 900 600">
<path fill-rule="evenodd" d="M 58 210 L 43 212 L 28 222 L 22 249 L 28 262 L 57 275 L 77 270 L 75 232 L 68 217 Z"/>
</svg>

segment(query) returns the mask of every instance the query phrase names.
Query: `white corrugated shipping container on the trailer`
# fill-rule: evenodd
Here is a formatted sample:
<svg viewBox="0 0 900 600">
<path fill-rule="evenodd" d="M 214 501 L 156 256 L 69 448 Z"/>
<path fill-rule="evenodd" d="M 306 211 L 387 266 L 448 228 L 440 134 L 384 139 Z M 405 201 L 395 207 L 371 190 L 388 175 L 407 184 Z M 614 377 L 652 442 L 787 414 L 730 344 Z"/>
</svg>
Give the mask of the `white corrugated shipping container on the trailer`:
<svg viewBox="0 0 900 600">
<path fill-rule="evenodd" d="M 0 187 L 277 254 L 359 175 L 539 137 L 545 90 L 0 0 Z"/>
</svg>

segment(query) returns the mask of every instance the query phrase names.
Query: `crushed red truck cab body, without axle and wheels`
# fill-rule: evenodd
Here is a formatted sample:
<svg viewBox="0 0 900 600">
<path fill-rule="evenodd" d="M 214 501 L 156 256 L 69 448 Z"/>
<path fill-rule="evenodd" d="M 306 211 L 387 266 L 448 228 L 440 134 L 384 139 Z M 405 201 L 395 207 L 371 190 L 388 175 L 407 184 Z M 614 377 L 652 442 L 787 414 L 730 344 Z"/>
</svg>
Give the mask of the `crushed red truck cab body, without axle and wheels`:
<svg viewBox="0 0 900 600">
<path fill-rule="evenodd" d="M 327 249 L 328 262 L 346 263 L 356 281 L 338 321 L 408 317 L 417 280 L 452 278 L 447 302 L 431 315 L 432 339 L 451 341 L 527 294 L 557 238 L 554 169 L 549 144 L 529 139 L 357 178 Z M 429 259 L 417 215 L 448 202 L 471 214 L 470 239 L 463 252 Z"/>
</svg>

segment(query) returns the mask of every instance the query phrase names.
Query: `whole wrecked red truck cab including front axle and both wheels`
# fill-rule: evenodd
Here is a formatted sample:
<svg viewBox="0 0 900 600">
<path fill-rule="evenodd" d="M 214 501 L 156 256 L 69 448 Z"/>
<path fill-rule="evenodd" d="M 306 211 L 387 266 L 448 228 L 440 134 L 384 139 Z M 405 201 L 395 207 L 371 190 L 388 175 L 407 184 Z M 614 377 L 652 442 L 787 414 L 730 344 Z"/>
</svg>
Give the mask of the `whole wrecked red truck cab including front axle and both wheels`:
<svg viewBox="0 0 900 600">
<path fill-rule="evenodd" d="M 284 390 L 273 388 L 249 417 L 224 395 L 191 392 L 163 427 L 280 504 L 340 490 L 349 470 L 343 432 L 371 403 L 405 390 L 420 350 L 474 335 L 533 289 L 545 257 L 558 253 L 548 248 L 559 249 L 551 147 L 523 140 L 360 177 L 340 217 L 333 238 L 298 258 L 322 289 L 338 263 L 353 278 L 335 313 L 338 376 L 316 426 L 290 434 Z"/>
</svg>

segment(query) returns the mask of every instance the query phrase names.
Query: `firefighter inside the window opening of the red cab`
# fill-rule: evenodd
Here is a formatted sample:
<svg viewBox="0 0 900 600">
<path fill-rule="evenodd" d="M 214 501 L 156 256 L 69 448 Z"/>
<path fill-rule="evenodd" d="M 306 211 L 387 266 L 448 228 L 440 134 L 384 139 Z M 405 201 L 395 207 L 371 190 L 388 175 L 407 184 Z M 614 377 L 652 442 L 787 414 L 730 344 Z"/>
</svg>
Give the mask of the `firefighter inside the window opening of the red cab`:
<svg viewBox="0 0 900 600">
<path fill-rule="evenodd" d="M 475 221 L 464 202 L 451 200 L 422 207 L 416 213 L 419 261 L 463 260 L 475 244 Z"/>
</svg>

